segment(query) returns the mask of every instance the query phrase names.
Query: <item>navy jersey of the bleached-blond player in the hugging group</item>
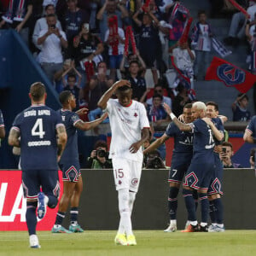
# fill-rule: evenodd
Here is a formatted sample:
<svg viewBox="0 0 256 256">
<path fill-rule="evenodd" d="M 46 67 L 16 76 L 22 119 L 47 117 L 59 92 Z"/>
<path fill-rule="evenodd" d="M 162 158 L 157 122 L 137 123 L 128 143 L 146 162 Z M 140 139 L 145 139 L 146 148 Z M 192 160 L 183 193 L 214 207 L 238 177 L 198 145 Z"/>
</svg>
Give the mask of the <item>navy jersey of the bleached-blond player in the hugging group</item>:
<svg viewBox="0 0 256 256">
<path fill-rule="evenodd" d="M 202 119 L 196 119 L 190 125 L 194 132 L 193 161 L 213 162 L 213 148 L 215 143 L 212 129 Z"/>
</svg>

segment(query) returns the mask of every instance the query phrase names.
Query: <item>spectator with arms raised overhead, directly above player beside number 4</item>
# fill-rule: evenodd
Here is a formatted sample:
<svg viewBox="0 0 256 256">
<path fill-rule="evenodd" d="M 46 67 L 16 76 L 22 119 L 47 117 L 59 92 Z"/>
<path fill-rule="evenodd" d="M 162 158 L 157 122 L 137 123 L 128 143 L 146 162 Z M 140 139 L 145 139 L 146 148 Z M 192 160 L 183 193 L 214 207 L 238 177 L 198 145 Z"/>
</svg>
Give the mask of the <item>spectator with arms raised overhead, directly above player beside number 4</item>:
<svg viewBox="0 0 256 256">
<path fill-rule="evenodd" d="M 73 96 L 75 96 L 76 99 L 76 108 L 75 110 L 79 109 L 79 102 L 81 99 L 81 88 L 80 88 L 80 83 L 81 83 L 81 75 L 74 67 L 72 69 L 75 70 L 77 75 L 79 76 L 79 81 L 77 81 L 76 75 L 74 73 L 68 73 L 68 70 L 62 74 L 62 83 L 64 85 L 63 90 L 69 90 L 73 93 Z M 65 76 L 67 74 L 67 81 L 65 79 Z"/>
</svg>

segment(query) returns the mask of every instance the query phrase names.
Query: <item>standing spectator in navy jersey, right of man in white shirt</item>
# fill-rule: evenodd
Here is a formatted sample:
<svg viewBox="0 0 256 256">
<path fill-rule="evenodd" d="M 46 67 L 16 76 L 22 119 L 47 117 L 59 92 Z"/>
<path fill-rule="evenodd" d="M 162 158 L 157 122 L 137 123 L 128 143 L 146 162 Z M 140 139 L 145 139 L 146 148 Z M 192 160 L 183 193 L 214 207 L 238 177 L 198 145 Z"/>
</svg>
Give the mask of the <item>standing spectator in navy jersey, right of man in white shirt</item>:
<svg viewBox="0 0 256 256">
<path fill-rule="evenodd" d="M 67 13 L 65 15 L 65 32 L 67 34 L 68 50 L 67 56 L 73 58 L 73 39 L 79 34 L 79 30 L 84 23 L 88 23 L 90 15 L 83 9 L 79 9 L 78 0 L 67 0 Z"/>
</svg>

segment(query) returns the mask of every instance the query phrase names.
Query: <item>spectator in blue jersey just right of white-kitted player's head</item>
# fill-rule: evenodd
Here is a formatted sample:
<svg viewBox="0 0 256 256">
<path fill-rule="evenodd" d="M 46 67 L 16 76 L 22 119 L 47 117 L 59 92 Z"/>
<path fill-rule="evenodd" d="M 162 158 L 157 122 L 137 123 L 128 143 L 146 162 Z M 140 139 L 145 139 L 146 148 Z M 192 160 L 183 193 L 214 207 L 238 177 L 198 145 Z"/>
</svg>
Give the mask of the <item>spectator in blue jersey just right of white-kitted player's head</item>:
<svg viewBox="0 0 256 256">
<path fill-rule="evenodd" d="M 170 121 L 169 115 L 167 115 L 165 108 L 162 105 L 163 96 L 159 94 L 154 94 L 153 104 L 148 107 L 148 120 L 153 122 L 155 125 L 160 125 Z"/>
</svg>

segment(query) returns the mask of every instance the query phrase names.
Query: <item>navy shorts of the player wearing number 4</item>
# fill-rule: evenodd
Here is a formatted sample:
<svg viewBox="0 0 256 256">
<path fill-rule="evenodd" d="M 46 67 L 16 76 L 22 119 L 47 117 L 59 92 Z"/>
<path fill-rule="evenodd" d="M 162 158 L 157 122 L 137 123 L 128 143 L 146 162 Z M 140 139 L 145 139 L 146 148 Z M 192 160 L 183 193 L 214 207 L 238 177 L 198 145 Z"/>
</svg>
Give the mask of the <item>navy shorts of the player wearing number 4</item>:
<svg viewBox="0 0 256 256">
<path fill-rule="evenodd" d="M 58 170 L 22 170 L 23 194 L 27 199 L 38 199 L 40 188 L 45 195 L 60 195 Z"/>
</svg>

